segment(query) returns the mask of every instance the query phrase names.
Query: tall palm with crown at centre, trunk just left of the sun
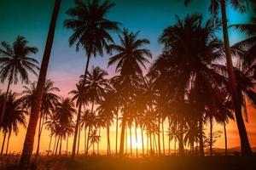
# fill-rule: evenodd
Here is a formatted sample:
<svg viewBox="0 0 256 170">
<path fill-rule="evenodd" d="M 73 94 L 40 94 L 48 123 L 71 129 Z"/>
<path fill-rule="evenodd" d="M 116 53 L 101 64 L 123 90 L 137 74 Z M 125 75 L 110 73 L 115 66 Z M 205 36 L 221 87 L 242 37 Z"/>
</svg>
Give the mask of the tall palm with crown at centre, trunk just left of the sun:
<svg viewBox="0 0 256 170">
<path fill-rule="evenodd" d="M 132 91 L 134 90 L 132 89 L 134 88 L 132 85 L 135 85 L 134 82 L 138 82 L 135 80 L 138 80 L 139 77 L 143 74 L 141 67 L 143 66 L 144 69 L 146 69 L 144 63 L 149 62 L 147 57 L 152 57 L 152 54 L 147 48 L 142 48 L 143 45 L 149 43 L 148 39 L 138 39 L 138 33 L 139 31 L 133 33 L 127 29 L 124 29 L 122 31 L 122 35 L 119 35 L 120 45 L 110 44 L 108 46 L 108 52 L 110 54 L 113 51 L 118 53 L 113 55 L 108 61 L 108 66 L 118 63 L 116 66 L 116 72 L 119 72 L 120 76 L 113 78 L 114 86 L 117 86 L 117 90 L 119 91 L 125 89 L 125 94 L 122 92 L 120 93 L 123 94 L 123 97 L 126 96 L 127 99 L 129 98 L 128 96 L 131 96 Z M 127 99 L 124 99 L 124 101 Z M 124 113 L 120 137 L 120 156 L 124 154 L 126 118 L 127 116 Z"/>
</svg>

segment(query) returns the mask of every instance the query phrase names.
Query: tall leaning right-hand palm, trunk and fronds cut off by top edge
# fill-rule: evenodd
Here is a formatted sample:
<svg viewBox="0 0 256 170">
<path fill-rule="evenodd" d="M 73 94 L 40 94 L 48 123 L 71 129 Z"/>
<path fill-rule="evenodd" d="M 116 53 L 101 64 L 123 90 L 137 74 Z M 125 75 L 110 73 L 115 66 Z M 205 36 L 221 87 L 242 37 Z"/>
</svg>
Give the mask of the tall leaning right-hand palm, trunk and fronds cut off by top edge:
<svg viewBox="0 0 256 170">
<path fill-rule="evenodd" d="M 185 0 L 185 4 L 189 3 L 189 1 Z M 252 155 L 251 146 L 249 140 L 247 138 L 247 130 L 244 125 L 242 114 L 241 114 L 241 107 L 239 104 L 239 95 L 236 92 L 236 78 L 233 68 L 233 62 L 231 58 L 231 50 L 230 50 L 230 40 L 229 40 L 229 31 L 228 31 L 228 19 L 226 14 L 226 6 L 230 4 L 231 7 L 239 10 L 241 13 L 244 13 L 247 9 L 247 0 L 211 0 L 211 4 L 209 7 L 209 11 L 211 12 L 214 19 L 218 18 L 218 10 L 221 11 L 221 19 L 222 19 L 222 26 L 223 26 L 223 36 L 224 36 L 224 52 L 226 56 L 226 65 L 227 65 L 227 72 L 229 77 L 230 83 L 230 93 L 232 95 L 232 103 L 235 111 L 236 116 L 236 124 L 238 127 L 239 136 L 241 139 L 241 154 L 242 155 Z"/>
</svg>

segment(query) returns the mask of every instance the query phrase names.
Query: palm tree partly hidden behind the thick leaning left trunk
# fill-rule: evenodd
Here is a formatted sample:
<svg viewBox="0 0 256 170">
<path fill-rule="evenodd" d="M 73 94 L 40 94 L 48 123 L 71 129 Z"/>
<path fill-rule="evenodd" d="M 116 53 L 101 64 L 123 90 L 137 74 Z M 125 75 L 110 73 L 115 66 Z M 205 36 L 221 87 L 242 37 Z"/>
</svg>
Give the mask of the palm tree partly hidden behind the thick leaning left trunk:
<svg viewBox="0 0 256 170">
<path fill-rule="evenodd" d="M 20 100 L 22 101 L 22 105 L 26 109 L 31 109 L 32 102 L 35 97 L 37 82 L 32 82 L 31 88 L 23 86 L 24 90 L 21 92 L 23 95 Z M 54 110 L 55 104 L 58 102 L 59 96 L 54 94 L 54 92 L 59 92 L 60 89 L 54 87 L 54 82 L 51 80 L 46 80 L 44 85 L 44 94 L 42 98 L 41 109 L 39 113 L 39 126 L 38 126 L 38 147 L 36 155 L 39 154 L 39 146 L 40 146 L 40 138 L 44 128 L 44 121 L 47 120 L 50 111 Z"/>
</svg>

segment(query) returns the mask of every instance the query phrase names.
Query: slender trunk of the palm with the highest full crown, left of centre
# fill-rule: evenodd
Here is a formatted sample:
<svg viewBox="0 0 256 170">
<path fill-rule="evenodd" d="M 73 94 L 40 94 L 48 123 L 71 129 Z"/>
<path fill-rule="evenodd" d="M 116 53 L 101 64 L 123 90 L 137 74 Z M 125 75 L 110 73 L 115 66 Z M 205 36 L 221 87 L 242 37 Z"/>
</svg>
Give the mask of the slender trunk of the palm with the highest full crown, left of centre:
<svg viewBox="0 0 256 170">
<path fill-rule="evenodd" d="M 84 85 L 86 77 L 87 77 L 89 62 L 90 62 L 90 56 L 87 57 L 86 67 L 85 67 L 85 71 L 84 71 L 83 85 Z M 75 126 L 75 133 L 74 133 L 74 136 L 73 136 L 73 150 L 72 150 L 72 156 L 71 156 L 72 160 L 75 156 L 75 151 L 76 151 L 76 144 L 77 144 L 77 138 L 78 138 L 78 132 L 79 132 L 79 123 L 80 123 L 80 118 L 81 118 L 82 105 L 83 105 L 82 102 L 80 102 L 79 103 L 79 112 L 78 112 L 77 122 L 76 122 L 76 126 Z M 90 133 L 88 133 L 88 135 L 89 134 Z M 88 144 L 87 144 L 87 146 L 88 146 Z M 88 147 L 87 147 L 87 149 L 88 149 Z"/>
</svg>

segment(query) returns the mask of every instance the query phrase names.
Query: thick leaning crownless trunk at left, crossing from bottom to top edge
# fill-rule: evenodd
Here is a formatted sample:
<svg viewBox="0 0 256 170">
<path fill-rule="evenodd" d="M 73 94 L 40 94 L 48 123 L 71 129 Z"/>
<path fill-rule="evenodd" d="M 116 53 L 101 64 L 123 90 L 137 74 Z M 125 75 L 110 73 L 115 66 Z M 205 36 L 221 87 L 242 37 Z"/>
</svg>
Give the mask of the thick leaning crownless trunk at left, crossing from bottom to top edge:
<svg viewBox="0 0 256 170">
<path fill-rule="evenodd" d="M 38 77 L 38 85 L 35 92 L 35 98 L 33 100 L 32 112 L 30 115 L 28 127 L 26 130 L 26 138 L 23 145 L 22 154 L 20 157 L 20 164 L 18 168 L 19 170 L 26 170 L 30 167 L 34 137 L 35 137 L 36 127 L 38 123 L 38 115 L 39 115 L 40 105 L 42 102 L 43 91 L 44 91 L 44 82 L 45 82 L 45 77 L 48 69 L 49 56 L 50 56 L 52 43 L 54 39 L 55 25 L 56 25 L 56 20 L 57 20 L 60 6 L 61 6 L 61 0 L 55 0 L 54 12 L 52 14 L 52 18 L 49 25 L 49 33 L 48 33 L 48 37 L 47 37 L 47 41 L 44 49 L 44 57 L 43 57 L 43 61 L 42 61 L 42 65 L 41 65 L 41 69 Z"/>
</svg>

